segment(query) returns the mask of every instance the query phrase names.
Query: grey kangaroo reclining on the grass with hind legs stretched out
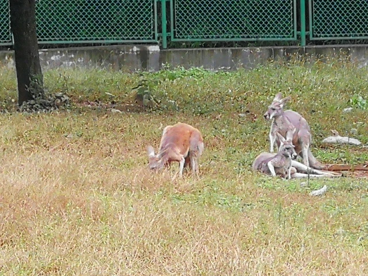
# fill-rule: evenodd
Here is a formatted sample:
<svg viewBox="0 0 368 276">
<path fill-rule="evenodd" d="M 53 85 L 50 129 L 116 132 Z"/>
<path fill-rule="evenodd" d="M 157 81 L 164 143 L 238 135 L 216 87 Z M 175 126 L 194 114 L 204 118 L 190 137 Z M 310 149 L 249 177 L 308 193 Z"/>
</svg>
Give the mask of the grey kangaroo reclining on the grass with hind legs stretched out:
<svg viewBox="0 0 368 276">
<path fill-rule="evenodd" d="M 285 139 L 276 132 L 280 140 L 280 147 L 277 153 L 262 152 L 253 162 L 252 169 L 272 176 L 281 176 L 283 178 L 303 178 L 303 177 L 327 177 L 337 176 L 336 174 L 319 171 L 305 166 L 295 160 L 297 153 L 292 143 L 292 138 L 296 129 L 288 133 Z"/>
</svg>

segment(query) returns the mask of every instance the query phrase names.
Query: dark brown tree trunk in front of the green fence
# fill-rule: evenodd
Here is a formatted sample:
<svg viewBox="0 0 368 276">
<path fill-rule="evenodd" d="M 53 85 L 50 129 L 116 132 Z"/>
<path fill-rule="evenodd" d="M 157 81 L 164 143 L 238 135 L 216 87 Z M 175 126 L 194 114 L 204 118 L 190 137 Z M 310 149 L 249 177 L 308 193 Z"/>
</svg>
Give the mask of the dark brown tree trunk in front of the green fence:
<svg viewBox="0 0 368 276">
<path fill-rule="evenodd" d="M 36 36 L 35 0 L 10 0 L 10 24 L 14 38 L 18 80 L 18 105 L 43 94 L 43 77 Z"/>
</svg>

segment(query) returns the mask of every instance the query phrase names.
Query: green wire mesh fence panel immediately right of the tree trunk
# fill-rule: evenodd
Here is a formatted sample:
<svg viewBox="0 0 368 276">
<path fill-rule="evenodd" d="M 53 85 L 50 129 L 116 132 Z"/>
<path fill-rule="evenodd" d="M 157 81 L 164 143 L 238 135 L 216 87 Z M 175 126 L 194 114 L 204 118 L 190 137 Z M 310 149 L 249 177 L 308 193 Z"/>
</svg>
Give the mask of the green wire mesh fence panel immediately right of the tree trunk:
<svg viewBox="0 0 368 276">
<path fill-rule="evenodd" d="M 39 0 L 39 42 L 157 40 L 156 0 Z"/>
</svg>

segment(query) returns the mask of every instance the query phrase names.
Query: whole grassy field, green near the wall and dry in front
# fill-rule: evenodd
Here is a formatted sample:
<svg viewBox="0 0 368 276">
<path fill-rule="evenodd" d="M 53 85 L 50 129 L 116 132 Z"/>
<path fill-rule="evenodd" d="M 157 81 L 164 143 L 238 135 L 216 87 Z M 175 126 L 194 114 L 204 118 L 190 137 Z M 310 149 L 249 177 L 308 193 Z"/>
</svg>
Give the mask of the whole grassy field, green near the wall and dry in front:
<svg viewBox="0 0 368 276">
<path fill-rule="evenodd" d="M 153 111 L 134 103 L 142 78 L 161 101 Z M 319 160 L 367 164 L 367 148 L 321 141 L 356 128 L 368 142 L 368 68 L 329 60 L 230 73 L 51 70 L 47 88 L 73 103 L 52 114 L 14 112 L 14 71 L 1 68 L 0 82 L 0 275 L 368 274 L 367 179 L 304 188 L 251 171 L 269 148 L 262 115 L 279 91 L 309 122 Z M 147 169 L 146 146 L 157 149 L 177 121 L 204 136 L 197 180 L 172 181 L 177 166 Z M 325 195 L 309 196 L 325 184 Z"/>
</svg>

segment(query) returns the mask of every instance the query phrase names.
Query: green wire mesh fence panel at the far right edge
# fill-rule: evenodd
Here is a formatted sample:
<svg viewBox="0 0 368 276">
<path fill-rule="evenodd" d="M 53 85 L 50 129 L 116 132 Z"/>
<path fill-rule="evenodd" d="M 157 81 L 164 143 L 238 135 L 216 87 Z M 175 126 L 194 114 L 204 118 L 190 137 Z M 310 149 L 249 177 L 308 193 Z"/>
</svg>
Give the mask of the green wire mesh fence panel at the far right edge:
<svg viewBox="0 0 368 276">
<path fill-rule="evenodd" d="M 368 38 L 367 0 L 309 0 L 311 39 Z"/>
</svg>

